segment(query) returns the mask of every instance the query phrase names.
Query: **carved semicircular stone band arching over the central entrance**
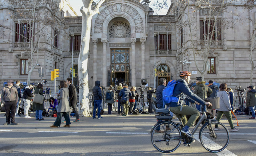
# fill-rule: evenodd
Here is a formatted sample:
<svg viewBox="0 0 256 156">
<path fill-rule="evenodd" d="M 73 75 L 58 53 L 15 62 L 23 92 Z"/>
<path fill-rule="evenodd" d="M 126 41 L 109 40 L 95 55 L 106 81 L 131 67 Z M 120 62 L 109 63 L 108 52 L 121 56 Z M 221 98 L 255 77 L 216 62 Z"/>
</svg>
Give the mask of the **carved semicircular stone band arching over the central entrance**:
<svg viewBox="0 0 256 156">
<path fill-rule="evenodd" d="M 114 12 L 124 12 L 131 16 L 135 23 L 135 33 L 143 32 L 143 21 L 136 9 L 126 4 L 113 4 L 100 11 L 94 26 L 94 33 L 102 33 L 103 22 L 108 15 Z"/>
</svg>

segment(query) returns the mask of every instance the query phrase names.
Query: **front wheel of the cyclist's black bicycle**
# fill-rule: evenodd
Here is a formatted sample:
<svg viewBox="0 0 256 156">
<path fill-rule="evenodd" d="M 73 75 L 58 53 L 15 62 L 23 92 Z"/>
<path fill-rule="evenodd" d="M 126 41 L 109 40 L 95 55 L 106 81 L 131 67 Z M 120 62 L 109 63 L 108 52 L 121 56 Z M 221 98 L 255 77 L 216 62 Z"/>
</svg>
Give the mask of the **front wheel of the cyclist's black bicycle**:
<svg viewBox="0 0 256 156">
<path fill-rule="evenodd" d="M 218 124 L 218 128 L 221 130 L 213 130 L 215 124 Z M 216 137 L 213 136 L 213 132 Z M 200 129 L 199 136 L 203 147 L 210 152 L 224 150 L 228 146 L 230 139 L 228 128 L 218 121 L 211 121 L 211 124 L 209 122 L 204 124 Z"/>
</svg>

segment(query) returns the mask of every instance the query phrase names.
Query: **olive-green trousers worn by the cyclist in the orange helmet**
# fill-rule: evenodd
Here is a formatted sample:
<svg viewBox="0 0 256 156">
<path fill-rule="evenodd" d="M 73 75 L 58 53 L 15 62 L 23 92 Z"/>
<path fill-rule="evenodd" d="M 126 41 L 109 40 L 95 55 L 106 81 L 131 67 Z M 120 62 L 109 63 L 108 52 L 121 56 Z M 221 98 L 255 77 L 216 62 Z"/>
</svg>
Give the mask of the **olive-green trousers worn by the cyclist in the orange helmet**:
<svg viewBox="0 0 256 156">
<path fill-rule="evenodd" d="M 170 111 L 174 113 L 177 117 L 181 118 L 183 124 L 185 126 L 192 127 L 195 124 L 196 119 L 200 116 L 200 112 L 188 105 L 182 105 L 177 107 L 169 107 Z M 186 115 L 191 115 L 190 118 L 187 120 Z"/>
</svg>

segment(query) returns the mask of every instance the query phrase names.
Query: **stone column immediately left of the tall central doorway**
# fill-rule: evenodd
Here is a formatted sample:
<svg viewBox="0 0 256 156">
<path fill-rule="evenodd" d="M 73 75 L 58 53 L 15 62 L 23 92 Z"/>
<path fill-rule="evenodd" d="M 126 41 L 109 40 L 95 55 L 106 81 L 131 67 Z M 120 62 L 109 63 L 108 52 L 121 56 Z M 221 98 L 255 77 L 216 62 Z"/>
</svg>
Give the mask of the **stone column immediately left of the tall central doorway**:
<svg viewBox="0 0 256 156">
<path fill-rule="evenodd" d="M 103 43 L 102 47 L 102 82 L 100 83 L 102 86 L 107 86 L 107 38 L 101 38 L 101 42 Z"/>
</svg>

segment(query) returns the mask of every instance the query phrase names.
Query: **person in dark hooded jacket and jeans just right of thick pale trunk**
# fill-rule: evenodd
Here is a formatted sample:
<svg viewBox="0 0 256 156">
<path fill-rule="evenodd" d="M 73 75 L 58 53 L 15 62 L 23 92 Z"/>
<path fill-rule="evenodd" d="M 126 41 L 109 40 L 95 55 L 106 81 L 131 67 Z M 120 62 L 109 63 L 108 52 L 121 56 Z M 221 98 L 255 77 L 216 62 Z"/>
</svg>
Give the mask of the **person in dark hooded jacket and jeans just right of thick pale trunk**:
<svg viewBox="0 0 256 156">
<path fill-rule="evenodd" d="M 102 103 L 102 90 L 99 86 L 100 86 L 100 81 L 95 81 L 95 86 L 92 89 L 93 102 L 94 102 L 93 115 L 92 115 L 93 119 L 96 117 L 96 108 L 98 108 L 98 113 L 97 113 L 98 119 L 102 118 L 100 116 L 101 103 Z"/>
</svg>

